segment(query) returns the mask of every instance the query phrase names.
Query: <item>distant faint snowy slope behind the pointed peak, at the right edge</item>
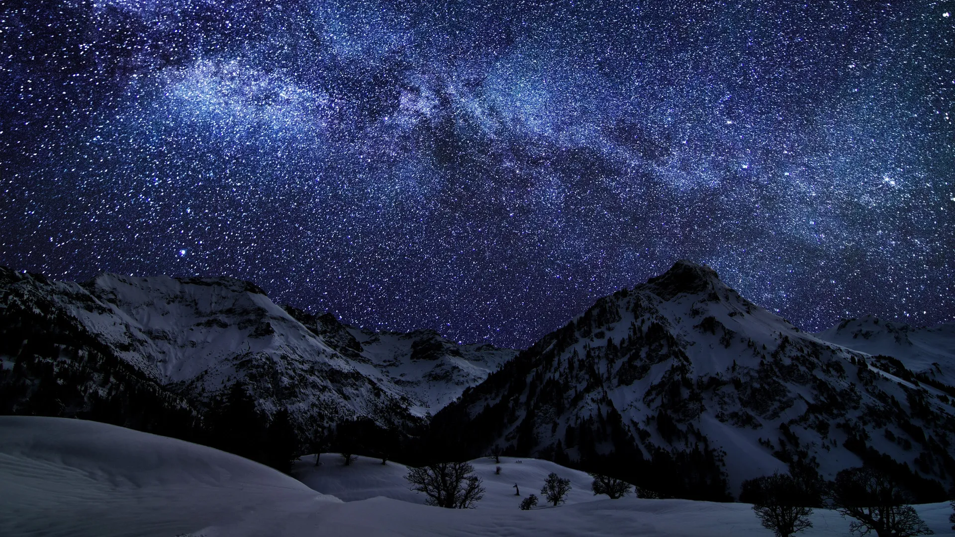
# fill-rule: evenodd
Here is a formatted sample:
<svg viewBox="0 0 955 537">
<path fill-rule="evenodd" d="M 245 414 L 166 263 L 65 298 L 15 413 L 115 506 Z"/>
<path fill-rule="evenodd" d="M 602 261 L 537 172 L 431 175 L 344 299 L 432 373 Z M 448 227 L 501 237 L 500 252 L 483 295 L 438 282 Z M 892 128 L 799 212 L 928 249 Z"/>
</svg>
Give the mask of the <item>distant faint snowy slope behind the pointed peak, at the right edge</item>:
<svg viewBox="0 0 955 537">
<path fill-rule="evenodd" d="M 914 373 L 955 386 L 955 323 L 917 328 L 866 315 L 816 335 L 859 353 L 892 356 Z"/>
</svg>

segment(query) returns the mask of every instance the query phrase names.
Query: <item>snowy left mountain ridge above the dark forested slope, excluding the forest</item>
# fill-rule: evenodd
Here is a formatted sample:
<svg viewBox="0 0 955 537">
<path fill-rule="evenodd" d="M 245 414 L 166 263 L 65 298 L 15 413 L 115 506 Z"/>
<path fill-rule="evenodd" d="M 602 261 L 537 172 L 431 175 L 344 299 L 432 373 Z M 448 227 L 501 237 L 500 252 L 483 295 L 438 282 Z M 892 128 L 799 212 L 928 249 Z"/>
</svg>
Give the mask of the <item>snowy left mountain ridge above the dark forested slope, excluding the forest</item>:
<svg viewBox="0 0 955 537">
<path fill-rule="evenodd" d="M 77 331 L 92 334 L 138 374 L 200 407 L 223 397 L 237 382 L 246 386 L 263 412 L 272 415 L 279 407 L 288 408 L 303 428 L 357 418 L 370 418 L 384 427 L 409 426 L 422 422 L 435 404 L 362 355 L 350 327 L 333 316 L 294 310 L 289 314 L 261 288 L 243 280 L 101 273 L 76 284 L 0 269 L 0 290 L 4 325 L 16 326 L 13 317 L 18 311 L 39 315 L 36 327 L 41 333 L 54 318 L 65 319 Z M 313 325 L 307 327 L 300 319 Z M 11 330 L 4 335 L 7 354 L 15 356 L 20 334 Z M 445 398 L 456 397 L 464 385 L 479 381 L 512 354 L 497 349 L 458 351 L 456 344 L 440 336 L 414 337 L 441 347 L 434 356 L 441 363 L 419 368 L 423 371 L 418 372 L 418 383 L 443 378 L 448 384 L 442 389 Z M 448 350 L 455 354 L 446 364 L 441 360 L 447 353 L 442 352 Z M 379 351 L 388 354 L 387 349 Z M 400 353 L 388 357 L 411 360 Z M 424 378 L 438 365 L 443 366 L 440 372 Z M 462 370 L 460 375 L 455 366 Z"/>
</svg>

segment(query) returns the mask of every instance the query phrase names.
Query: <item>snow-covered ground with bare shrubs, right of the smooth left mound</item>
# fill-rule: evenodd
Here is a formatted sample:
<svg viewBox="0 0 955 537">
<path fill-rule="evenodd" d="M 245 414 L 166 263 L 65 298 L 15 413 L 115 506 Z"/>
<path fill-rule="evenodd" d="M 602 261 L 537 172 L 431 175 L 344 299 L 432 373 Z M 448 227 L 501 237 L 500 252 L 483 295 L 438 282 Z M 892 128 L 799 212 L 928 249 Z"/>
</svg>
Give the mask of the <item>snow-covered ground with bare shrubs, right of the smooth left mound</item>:
<svg viewBox="0 0 955 537">
<path fill-rule="evenodd" d="M 632 494 L 608 500 L 590 492 L 584 472 L 537 459 L 501 457 L 500 463 L 481 458 L 471 463 L 486 489 L 472 510 L 441 509 L 420 505 L 423 498 L 408 489 L 407 466 L 382 465 L 359 457 L 345 466 L 334 453 L 322 454 L 320 466 L 313 456 L 296 463 L 293 475 L 309 487 L 333 494 L 345 504 L 329 505 L 324 514 L 336 535 L 373 535 L 374 528 L 390 527 L 395 535 L 566 535 L 566 536 L 769 536 L 759 526 L 748 504 L 714 504 L 688 500 L 643 500 Z M 518 462 L 520 461 L 520 462 Z M 495 474 L 495 466 L 501 473 Z M 550 472 L 571 480 L 567 502 L 558 507 L 541 505 L 531 511 L 517 508 L 520 498 L 513 485 L 520 484 L 521 498 L 541 496 L 541 484 Z M 410 505 L 413 503 L 415 505 Z M 938 535 L 955 535 L 948 528 L 948 504 L 918 505 L 926 523 Z M 849 523 L 832 511 L 817 509 L 807 537 L 845 535 Z"/>
</svg>

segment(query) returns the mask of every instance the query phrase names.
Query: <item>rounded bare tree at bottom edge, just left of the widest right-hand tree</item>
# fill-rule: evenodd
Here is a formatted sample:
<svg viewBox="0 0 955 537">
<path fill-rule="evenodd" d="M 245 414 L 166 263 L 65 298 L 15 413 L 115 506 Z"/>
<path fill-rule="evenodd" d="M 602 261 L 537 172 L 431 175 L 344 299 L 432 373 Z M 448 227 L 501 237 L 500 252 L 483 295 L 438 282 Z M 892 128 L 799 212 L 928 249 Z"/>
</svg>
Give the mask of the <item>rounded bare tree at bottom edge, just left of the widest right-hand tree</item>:
<svg viewBox="0 0 955 537">
<path fill-rule="evenodd" d="M 763 527 L 776 537 L 790 535 L 812 527 L 810 492 L 790 474 L 773 474 L 743 484 L 753 498 L 753 511 Z"/>
</svg>

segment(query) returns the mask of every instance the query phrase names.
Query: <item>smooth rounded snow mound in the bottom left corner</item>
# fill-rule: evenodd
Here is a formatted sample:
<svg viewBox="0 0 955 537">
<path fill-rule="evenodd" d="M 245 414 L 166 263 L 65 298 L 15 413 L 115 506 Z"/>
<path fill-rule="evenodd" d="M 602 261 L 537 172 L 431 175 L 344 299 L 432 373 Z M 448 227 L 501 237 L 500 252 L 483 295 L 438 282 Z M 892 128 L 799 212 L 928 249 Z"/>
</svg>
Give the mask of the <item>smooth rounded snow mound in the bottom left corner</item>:
<svg viewBox="0 0 955 537">
<path fill-rule="evenodd" d="M 7 537 L 265 534 L 287 512 L 304 516 L 331 502 L 338 500 L 209 447 L 94 421 L 0 417 Z"/>
</svg>

